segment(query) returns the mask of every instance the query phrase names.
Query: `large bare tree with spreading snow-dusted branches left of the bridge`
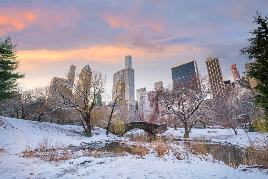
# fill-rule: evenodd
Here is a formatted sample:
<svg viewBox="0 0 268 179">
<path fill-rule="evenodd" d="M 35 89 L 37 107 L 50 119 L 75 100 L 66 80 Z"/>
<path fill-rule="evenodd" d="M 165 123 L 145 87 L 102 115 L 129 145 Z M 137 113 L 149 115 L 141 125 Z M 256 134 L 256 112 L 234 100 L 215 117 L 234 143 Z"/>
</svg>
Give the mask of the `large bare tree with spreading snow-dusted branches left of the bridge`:
<svg viewBox="0 0 268 179">
<path fill-rule="evenodd" d="M 53 88 L 54 100 L 66 107 L 57 106 L 55 109 L 77 110 L 80 112 L 87 126 L 87 135 L 91 134 L 91 111 L 95 106 L 97 95 L 105 92 L 107 76 L 100 71 L 93 71 L 91 79 L 84 80 L 77 78 L 68 83 L 74 88 L 74 94 L 66 92 L 60 87 Z"/>
</svg>

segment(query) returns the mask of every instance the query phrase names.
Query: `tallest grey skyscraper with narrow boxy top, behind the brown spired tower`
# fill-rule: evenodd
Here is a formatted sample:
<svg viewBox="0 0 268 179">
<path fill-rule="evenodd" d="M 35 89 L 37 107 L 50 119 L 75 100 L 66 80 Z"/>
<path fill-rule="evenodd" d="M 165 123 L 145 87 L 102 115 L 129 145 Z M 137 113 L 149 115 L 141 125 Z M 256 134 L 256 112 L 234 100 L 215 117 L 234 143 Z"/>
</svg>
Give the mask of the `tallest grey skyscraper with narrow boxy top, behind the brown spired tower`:
<svg viewBox="0 0 268 179">
<path fill-rule="evenodd" d="M 121 74 L 123 74 L 125 81 L 125 99 L 127 103 L 127 110 L 134 112 L 135 107 L 135 91 L 134 91 L 134 70 L 131 68 L 132 58 L 127 55 L 125 57 L 125 69 L 120 70 L 113 74 L 113 99 L 116 94 L 117 81 L 120 79 Z"/>
</svg>

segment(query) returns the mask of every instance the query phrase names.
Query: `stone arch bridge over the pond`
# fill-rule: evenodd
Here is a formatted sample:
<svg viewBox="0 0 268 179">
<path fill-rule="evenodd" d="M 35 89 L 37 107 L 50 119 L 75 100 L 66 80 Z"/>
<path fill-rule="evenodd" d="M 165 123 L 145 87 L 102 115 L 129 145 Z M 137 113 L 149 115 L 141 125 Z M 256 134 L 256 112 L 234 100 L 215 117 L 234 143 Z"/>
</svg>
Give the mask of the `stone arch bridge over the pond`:
<svg viewBox="0 0 268 179">
<path fill-rule="evenodd" d="M 127 131 L 130 131 L 131 129 L 134 128 L 139 128 L 144 130 L 149 134 L 149 136 L 155 136 L 156 134 L 166 131 L 167 130 L 167 125 L 160 125 L 160 124 L 153 124 L 149 122 L 128 122 L 124 124 L 116 124 L 115 126 L 112 127 L 109 132 L 123 136 Z"/>
</svg>

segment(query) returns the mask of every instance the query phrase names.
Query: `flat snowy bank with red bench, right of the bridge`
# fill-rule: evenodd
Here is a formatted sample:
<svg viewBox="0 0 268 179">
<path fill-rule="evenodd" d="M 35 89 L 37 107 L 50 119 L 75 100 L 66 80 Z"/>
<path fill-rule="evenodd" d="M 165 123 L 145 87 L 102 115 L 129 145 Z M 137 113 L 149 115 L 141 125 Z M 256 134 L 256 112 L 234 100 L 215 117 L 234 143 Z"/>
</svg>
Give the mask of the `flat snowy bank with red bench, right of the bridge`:
<svg viewBox="0 0 268 179">
<path fill-rule="evenodd" d="M 208 133 L 208 131 L 217 131 L 216 133 Z M 235 135 L 233 129 L 191 129 L 189 134 L 189 138 L 186 140 L 194 140 L 199 139 L 216 143 L 223 143 L 227 145 L 234 145 L 241 148 L 246 148 L 250 146 L 250 143 L 256 143 L 257 141 L 261 143 L 261 141 L 267 141 L 268 133 L 261 132 L 245 132 L 243 129 L 237 129 L 238 135 Z M 185 139 L 184 128 L 168 128 L 162 136 L 166 136 L 166 138 L 175 138 L 175 139 Z M 264 146 L 264 144 L 263 144 Z"/>
</svg>

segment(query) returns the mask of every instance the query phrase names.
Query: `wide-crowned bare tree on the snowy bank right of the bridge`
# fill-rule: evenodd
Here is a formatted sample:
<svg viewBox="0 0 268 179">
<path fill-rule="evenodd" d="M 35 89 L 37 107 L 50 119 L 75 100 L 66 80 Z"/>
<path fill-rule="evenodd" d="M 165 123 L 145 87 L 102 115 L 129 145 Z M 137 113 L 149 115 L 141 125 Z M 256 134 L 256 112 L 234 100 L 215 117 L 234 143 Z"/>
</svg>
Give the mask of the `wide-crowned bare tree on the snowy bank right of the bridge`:
<svg viewBox="0 0 268 179">
<path fill-rule="evenodd" d="M 189 132 L 197 121 L 202 118 L 207 119 L 208 113 L 224 98 L 225 95 L 222 95 L 211 103 L 205 103 L 213 88 L 206 76 L 199 76 L 198 80 L 191 78 L 173 87 L 169 85 L 158 96 L 160 111 L 176 115 L 184 124 L 184 137 L 188 138 Z"/>
</svg>

